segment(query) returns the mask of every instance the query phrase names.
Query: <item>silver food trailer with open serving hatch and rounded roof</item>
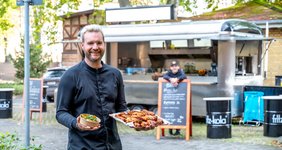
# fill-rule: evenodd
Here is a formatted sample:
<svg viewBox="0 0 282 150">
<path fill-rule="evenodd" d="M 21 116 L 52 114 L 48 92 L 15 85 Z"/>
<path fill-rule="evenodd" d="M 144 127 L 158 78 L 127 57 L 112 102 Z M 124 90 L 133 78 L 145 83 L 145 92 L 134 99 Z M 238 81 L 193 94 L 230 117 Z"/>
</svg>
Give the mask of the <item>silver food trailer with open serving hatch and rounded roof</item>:
<svg viewBox="0 0 282 150">
<path fill-rule="evenodd" d="M 157 111 L 158 82 L 178 60 L 191 80 L 192 115 L 205 116 L 204 97 L 232 96 L 232 116 L 242 114 L 242 87 L 262 85 L 268 39 L 240 20 L 182 21 L 103 26 L 106 62 L 123 71 L 131 109 Z"/>
</svg>

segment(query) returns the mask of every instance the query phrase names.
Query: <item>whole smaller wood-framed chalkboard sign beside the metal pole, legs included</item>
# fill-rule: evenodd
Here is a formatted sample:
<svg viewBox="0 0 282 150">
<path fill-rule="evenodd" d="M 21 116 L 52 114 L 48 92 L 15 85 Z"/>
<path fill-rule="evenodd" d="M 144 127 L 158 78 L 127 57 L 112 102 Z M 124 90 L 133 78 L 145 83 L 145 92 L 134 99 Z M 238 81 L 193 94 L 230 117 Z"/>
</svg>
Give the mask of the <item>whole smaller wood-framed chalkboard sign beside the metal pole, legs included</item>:
<svg viewBox="0 0 282 150">
<path fill-rule="evenodd" d="M 42 79 L 31 78 L 29 80 L 29 105 L 30 105 L 30 119 L 32 119 L 33 112 L 39 112 L 40 123 L 42 123 L 42 97 L 43 97 L 43 81 Z M 24 108 L 25 100 L 23 100 Z M 22 120 L 24 113 L 22 113 Z"/>
</svg>

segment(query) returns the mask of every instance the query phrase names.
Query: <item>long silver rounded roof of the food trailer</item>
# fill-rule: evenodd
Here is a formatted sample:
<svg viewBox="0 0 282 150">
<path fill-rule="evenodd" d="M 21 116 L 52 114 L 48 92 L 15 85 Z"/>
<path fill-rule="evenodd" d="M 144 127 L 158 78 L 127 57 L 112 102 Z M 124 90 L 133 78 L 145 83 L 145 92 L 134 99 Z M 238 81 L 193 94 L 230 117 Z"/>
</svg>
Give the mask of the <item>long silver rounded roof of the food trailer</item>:
<svg viewBox="0 0 282 150">
<path fill-rule="evenodd" d="M 103 26 L 106 42 L 137 42 L 154 40 L 268 40 L 261 29 L 239 19 L 188 21 L 157 24 Z"/>
</svg>

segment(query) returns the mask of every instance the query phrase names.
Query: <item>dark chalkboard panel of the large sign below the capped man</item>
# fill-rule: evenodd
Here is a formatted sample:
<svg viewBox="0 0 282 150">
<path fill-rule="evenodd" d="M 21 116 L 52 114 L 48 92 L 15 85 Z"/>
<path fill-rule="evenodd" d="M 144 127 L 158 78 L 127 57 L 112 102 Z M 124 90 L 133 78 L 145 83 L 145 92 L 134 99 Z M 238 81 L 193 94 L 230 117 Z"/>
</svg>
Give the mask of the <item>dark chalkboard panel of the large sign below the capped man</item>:
<svg viewBox="0 0 282 150">
<path fill-rule="evenodd" d="M 169 82 L 162 83 L 161 117 L 171 125 L 186 125 L 187 83 L 180 82 L 174 87 Z"/>
</svg>

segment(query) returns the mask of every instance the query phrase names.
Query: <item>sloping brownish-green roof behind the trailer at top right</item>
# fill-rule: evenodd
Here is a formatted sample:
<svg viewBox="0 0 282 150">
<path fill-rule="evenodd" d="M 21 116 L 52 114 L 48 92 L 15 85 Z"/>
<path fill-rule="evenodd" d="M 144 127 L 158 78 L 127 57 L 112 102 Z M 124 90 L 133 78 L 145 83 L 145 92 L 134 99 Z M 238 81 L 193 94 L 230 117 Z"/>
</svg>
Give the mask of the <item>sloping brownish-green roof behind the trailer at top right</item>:
<svg viewBox="0 0 282 150">
<path fill-rule="evenodd" d="M 281 20 L 282 7 L 269 5 L 259 1 L 238 4 L 225 9 L 189 17 L 190 20 L 218 20 L 238 18 L 248 21 Z"/>
</svg>

